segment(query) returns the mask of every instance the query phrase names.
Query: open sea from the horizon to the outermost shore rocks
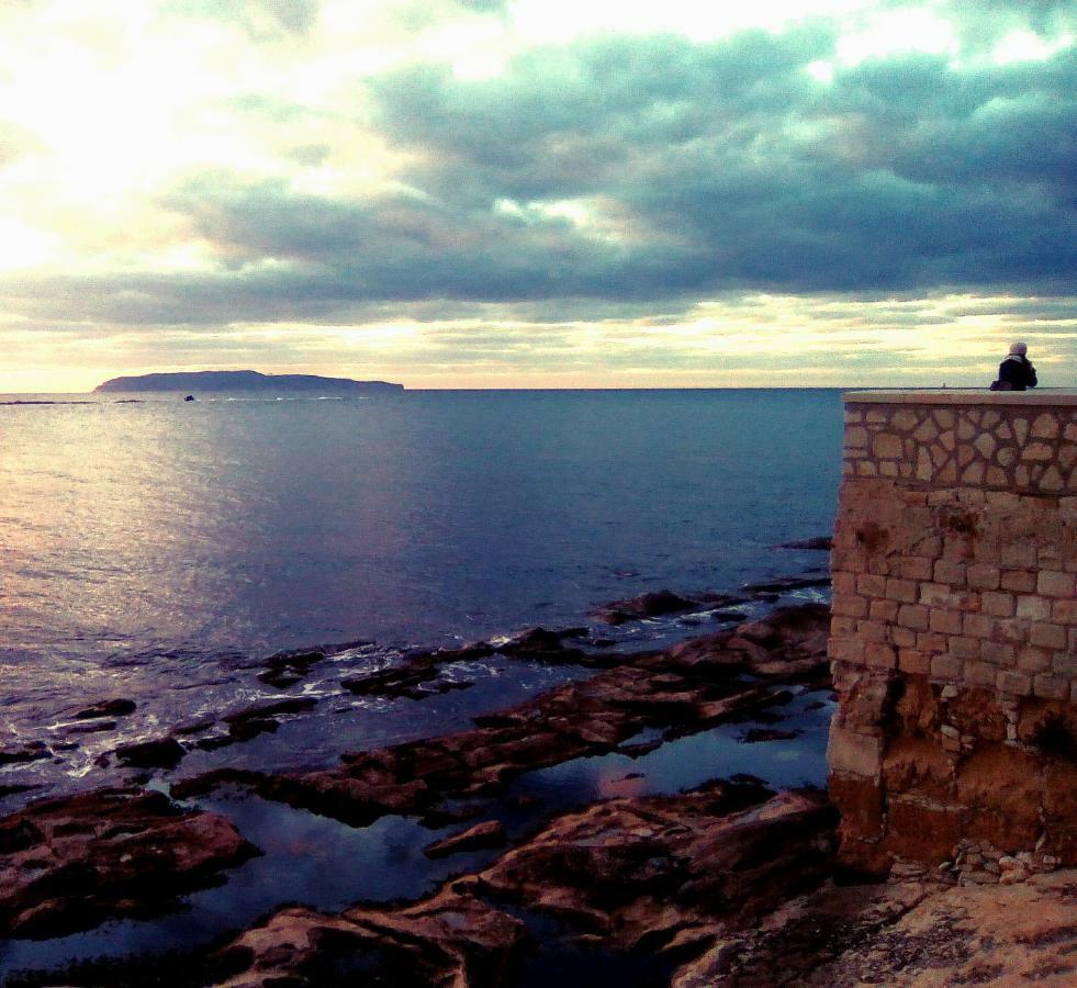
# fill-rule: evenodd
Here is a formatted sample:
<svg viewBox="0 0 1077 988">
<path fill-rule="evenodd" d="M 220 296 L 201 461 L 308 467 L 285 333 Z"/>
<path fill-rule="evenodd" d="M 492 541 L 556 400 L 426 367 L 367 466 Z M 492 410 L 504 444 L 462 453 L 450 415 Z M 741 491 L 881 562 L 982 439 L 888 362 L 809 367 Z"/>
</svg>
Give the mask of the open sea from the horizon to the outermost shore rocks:
<svg viewBox="0 0 1077 988">
<path fill-rule="evenodd" d="M 139 701 L 121 732 L 220 712 L 280 649 L 819 565 L 771 547 L 830 530 L 841 428 L 837 391 L 0 405 L 0 748 L 110 696 Z"/>
</svg>

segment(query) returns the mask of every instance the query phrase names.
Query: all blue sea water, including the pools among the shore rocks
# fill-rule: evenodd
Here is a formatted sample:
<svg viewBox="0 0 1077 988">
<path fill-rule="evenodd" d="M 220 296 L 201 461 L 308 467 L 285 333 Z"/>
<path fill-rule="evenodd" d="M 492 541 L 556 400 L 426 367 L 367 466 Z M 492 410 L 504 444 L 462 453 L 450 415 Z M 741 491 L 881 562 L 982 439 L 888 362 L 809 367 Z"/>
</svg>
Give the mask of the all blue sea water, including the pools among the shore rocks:
<svg viewBox="0 0 1077 988">
<path fill-rule="evenodd" d="M 422 703 L 352 696 L 340 680 L 416 649 L 532 627 L 582 627 L 614 648 L 654 648 L 719 630 L 729 611 L 714 603 L 720 595 L 827 572 L 824 552 L 779 547 L 832 529 L 839 391 L 197 398 L 0 395 L 0 813 L 130 782 L 117 745 L 195 737 L 282 696 L 317 708 L 249 743 L 192 748 L 175 776 L 327 767 L 343 751 L 467 727 L 476 712 L 588 673 L 500 656 L 457 663 L 447 675 L 470 688 Z M 616 628 L 595 617 L 659 590 L 700 603 Z M 822 586 L 748 594 L 737 608 L 759 616 L 827 595 Z M 281 689 L 259 680 L 274 653 L 315 648 L 327 658 L 301 682 Z M 101 730 L 77 717 L 115 698 L 134 700 L 135 711 Z M 680 753 L 663 745 L 653 777 L 673 790 L 740 771 L 821 783 L 828 714 L 812 715 L 799 746 L 740 745 L 728 731 L 685 739 Z M 585 795 L 596 771 L 568 766 L 548 782 Z M 383 846 L 378 828 L 390 826 L 343 834 L 312 815 L 259 812 L 257 800 L 234 809 L 262 846 L 299 828 L 307 846 L 336 841 L 349 861 L 357 840 Z M 397 851 L 418 829 L 392 826 Z M 363 888 L 388 883 L 375 898 L 416 895 L 436 878 L 379 866 L 363 846 L 373 854 Z M 358 897 L 355 880 L 334 884 L 332 855 L 259 861 L 245 868 L 291 868 L 294 895 L 308 886 L 322 908 Z M 261 898 L 258 888 L 248 877 L 213 895 L 235 898 L 225 910 L 233 919 L 253 919 L 279 898 L 276 886 Z M 218 901 L 213 914 L 224 908 Z M 198 940 L 192 922 L 137 935 L 112 923 L 55 948 L 11 943 L 0 948 L 0 977 L 87 951 L 187 944 Z"/>
</svg>

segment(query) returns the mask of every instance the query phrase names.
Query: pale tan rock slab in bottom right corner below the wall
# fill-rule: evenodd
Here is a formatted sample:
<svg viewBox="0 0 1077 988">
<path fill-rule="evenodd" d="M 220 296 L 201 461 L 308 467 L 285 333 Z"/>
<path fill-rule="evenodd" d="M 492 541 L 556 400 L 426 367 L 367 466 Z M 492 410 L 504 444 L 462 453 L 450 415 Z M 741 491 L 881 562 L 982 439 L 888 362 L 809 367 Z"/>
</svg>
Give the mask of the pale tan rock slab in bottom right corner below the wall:
<svg viewBox="0 0 1077 988">
<path fill-rule="evenodd" d="M 1001 888 L 827 885 L 720 940 L 672 984 L 1069 986 L 1077 983 L 1075 914 L 1074 871 Z"/>
</svg>

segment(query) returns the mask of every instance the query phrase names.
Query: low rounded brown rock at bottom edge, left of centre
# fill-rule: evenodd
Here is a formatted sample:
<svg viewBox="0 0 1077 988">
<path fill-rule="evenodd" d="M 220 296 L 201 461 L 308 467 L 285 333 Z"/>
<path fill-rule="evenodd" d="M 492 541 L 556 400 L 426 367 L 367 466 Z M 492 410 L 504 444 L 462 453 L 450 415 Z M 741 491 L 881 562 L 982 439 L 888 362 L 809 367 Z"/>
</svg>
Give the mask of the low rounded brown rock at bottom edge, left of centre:
<svg viewBox="0 0 1077 988">
<path fill-rule="evenodd" d="M 339 916 L 290 907 L 224 950 L 222 963 L 242 970 L 218 988 L 498 988 L 508 984 L 525 940 L 518 919 L 449 890 L 403 908 L 352 908 Z"/>
</svg>

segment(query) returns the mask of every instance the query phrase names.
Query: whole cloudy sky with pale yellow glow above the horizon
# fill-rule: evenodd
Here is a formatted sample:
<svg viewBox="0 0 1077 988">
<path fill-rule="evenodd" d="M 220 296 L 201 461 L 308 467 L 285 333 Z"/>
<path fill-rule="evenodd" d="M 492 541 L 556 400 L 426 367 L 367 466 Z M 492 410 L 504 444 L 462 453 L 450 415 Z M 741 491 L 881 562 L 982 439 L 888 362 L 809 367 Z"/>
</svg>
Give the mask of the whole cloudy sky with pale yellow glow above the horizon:
<svg viewBox="0 0 1077 988">
<path fill-rule="evenodd" d="M 0 0 L 0 391 L 1077 385 L 1055 0 Z"/>
</svg>

